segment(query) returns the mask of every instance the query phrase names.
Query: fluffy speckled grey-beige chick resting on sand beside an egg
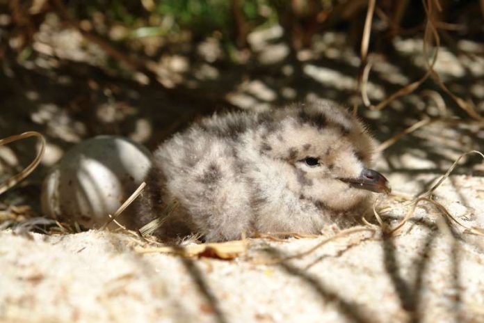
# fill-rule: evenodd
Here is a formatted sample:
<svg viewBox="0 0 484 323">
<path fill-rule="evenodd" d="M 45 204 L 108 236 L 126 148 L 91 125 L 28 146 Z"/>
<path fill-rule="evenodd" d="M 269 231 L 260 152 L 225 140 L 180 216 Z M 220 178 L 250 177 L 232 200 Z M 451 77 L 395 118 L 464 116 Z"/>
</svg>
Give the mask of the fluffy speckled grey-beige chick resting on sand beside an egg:
<svg viewBox="0 0 484 323">
<path fill-rule="evenodd" d="M 136 224 L 160 218 L 155 235 L 207 241 L 351 226 L 371 192 L 389 193 L 373 150 L 364 126 L 325 101 L 205 118 L 155 150 Z"/>
</svg>

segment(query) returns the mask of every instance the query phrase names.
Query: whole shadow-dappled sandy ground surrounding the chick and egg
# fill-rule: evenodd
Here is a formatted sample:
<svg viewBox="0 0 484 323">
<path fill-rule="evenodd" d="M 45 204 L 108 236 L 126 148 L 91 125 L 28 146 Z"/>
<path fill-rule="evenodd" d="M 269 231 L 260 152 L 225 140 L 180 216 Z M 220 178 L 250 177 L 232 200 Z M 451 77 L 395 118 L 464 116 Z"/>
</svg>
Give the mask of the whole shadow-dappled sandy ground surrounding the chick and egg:
<svg viewBox="0 0 484 323">
<path fill-rule="evenodd" d="M 47 137 L 47 152 L 26 181 L 2 196 L 0 322 L 484 321 L 484 239 L 455 224 L 449 230 L 438 220 L 442 212 L 426 203 L 396 237 L 353 233 L 275 265 L 334 232 L 251 239 L 236 258 L 219 260 L 143 253 L 148 246 L 127 233 L 44 235 L 22 226 L 42 215 L 40 182 L 49 167 L 90 136 L 120 134 L 152 149 L 213 111 L 268 109 L 307 97 L 352 107 L 359 58 L 343 33 L 325 33 L 297 53 L 277 26 L 249 41 L 255 55 L 245 65 L 227 65 L 215 38 L 162 56 L 156 61 L 162 88 L 143 77 L 120 77 L 106 67 L 101 49 L 51 15 L 35 36 L 35 59 L 3 63 L 0 138 L 36 130 Z M 425 72 L 421 39 L 393 45 L 393 61 L 373 57 L 373 102 Z M 484 114 L 482 54 L 482 44 L 472 40 L 444 44 L 435 70 Z M 466 113 L 437 92 L 428 79 L 382 111 L 359 111 L 380 143 L 424 116 L 439 118 L 380 154 L 377 169 L 398 194 L 417 196 L 460 154 L 484 151 L 483 124 L 455 121 Z M 35 150 L 33 141 L 0 147 L 0 180 L 28 164 Z M 434 194 L 468 227 L 484 228 L 483 165 L 477 155 L 465 157 Z M 382 212 L 390 224 L 408 210 L 396 200 L 382 203 L 392 206 Z"/>
</svg>

